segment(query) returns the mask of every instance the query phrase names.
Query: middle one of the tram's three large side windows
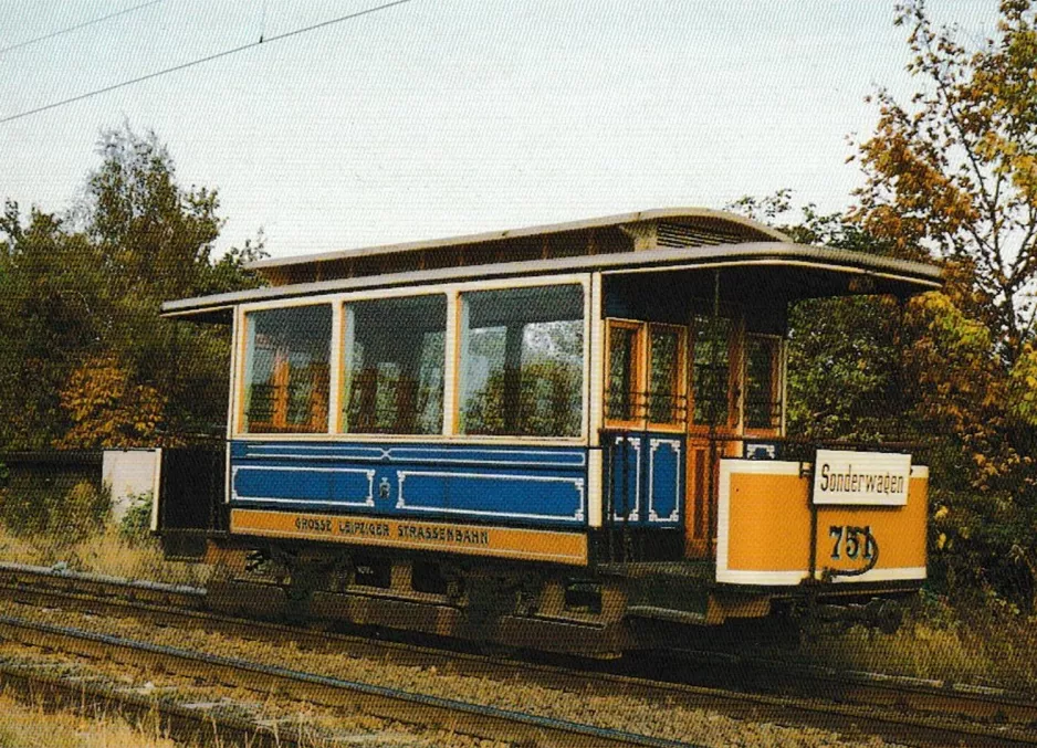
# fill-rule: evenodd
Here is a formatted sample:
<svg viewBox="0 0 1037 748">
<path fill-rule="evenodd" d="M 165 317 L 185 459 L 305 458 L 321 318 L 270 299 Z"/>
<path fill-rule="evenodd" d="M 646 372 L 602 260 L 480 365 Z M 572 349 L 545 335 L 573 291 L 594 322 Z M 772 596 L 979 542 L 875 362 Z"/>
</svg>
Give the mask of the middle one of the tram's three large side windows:
<svg viewBox="0 0 1037 748">
<path fill-rule="evenodd" d="M 345 433 L 436 434 L 443 428 L 447 297 L 345 307 Z"/>
</svg>

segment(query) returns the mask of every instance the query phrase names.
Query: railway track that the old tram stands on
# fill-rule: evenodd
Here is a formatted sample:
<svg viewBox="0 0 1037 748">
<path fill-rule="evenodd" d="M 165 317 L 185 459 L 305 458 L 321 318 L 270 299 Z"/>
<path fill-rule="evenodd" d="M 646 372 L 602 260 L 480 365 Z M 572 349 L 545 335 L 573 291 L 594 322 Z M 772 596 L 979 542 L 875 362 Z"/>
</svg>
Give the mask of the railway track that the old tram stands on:
<svg viewBox="0 0 1037 748">
<path fill-rule="evenodd" d="M 595 668 L 534 665 L 409 643 L 245 621 L 205 612 L 205 592 L 196 588 L 124 582 L 96 576 L 86 577 L 84 584 L 80 586 L 77 579 L 77 575 L 69 572 L 0 565 L 0 598 L 38 605 L 71 605 L 129 614 L 168 625 L 218 630 L 247 639 L 284 641 L 291 636 L 300 646 L 346 650 L 353 656 L 377 657 L 394 664 L 436 666 L 444 673 L 462 675 L 485 676 L 492 672 L 495 678 L 521 678 L 551 688 L 624 695 L 668 707 L 711 708 L 737 718 L 809 725 L 849 735 L 873 734 L 912 745 L 1037 745 L 1037 733 L 1033 730 L 1037 726 L 1037 700 L 996 689 L 867 673 L 834 673 L 816 667 L 790 668 L 785 663 L 779 663 L 781 668 L 776 672 L 773 663 L 723 660 L 725 672 L 736 671 L 745 681 L 753 683 L 754 693 L 745 693 L 727 687 L 631 677 Z M 14 630 L 9 626 L 3 624 L 0 632 L 14 636 Z M 53 632 L 50 635 L 54 635 Z M 66 638 L 64 641 L 71 640 Z M 673 670 L 672 664 L 669 670 Z M 796 696 L 783 693 L 793 684 Z M 441 718 L 444 716 L 446 712 L 439 714 Z M 497 738 L 501 735 L 500 730 L 492 734 Z M 627 736 L 625 739 L 630 738 Z M 572 742 L 572 737 L 567 740 Z"/>
</svg>

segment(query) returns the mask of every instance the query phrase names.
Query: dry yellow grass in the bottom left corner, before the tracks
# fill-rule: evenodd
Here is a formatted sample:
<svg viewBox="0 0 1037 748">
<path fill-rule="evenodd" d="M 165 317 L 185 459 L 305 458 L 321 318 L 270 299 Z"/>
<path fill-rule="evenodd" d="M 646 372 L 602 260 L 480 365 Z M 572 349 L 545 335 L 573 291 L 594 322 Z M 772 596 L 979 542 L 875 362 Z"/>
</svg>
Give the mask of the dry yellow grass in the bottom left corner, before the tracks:
<svg viewBox="0 0 1037 748">
<path fill-rule="evenodd" d="M 176 748 L 172 740 L 99 715 L 46 713 L 0 694 L 0 748 Z"/>
</svg>

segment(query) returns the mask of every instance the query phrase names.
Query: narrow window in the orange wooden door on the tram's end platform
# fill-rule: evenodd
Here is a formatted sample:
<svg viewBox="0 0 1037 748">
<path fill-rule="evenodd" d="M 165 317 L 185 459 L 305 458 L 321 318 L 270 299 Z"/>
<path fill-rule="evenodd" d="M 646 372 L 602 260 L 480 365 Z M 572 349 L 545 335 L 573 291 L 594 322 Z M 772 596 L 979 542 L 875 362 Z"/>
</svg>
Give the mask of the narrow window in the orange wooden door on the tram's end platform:
<svg viewBox="0 0 1037 748">
<path fill-rule="evenodd" d="M 731 422 L 731 320 L 696 315 L 692 351 L 692 393 L 696 425 Z"/>
</svg>

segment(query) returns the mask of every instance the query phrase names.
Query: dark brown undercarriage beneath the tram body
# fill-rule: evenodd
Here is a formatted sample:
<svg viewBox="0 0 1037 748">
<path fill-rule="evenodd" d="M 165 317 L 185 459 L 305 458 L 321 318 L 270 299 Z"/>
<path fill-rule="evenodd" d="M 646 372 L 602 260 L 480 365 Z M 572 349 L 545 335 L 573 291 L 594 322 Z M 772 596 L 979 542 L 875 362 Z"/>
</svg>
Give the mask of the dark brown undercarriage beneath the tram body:
<svg viewBox="0 0 1037 748">
<path fill-rule="evenodd" d="M 750 631 L 792 641 L 800 624 L 794 612 L 888 631 L 899 622 L 891 598 L 914 591 L 890 582 L 735 589 L 711 583 L 713 565 L 704 561 L 531 569 L 528 563 L 251 540 L 207 542 L 198 560 L 216 568 L 207 586 L 210 610 L 589 657 L 692 647 L 703 638 L 717 638 L 717 631 L 725 639 Z"/>
</svg>

